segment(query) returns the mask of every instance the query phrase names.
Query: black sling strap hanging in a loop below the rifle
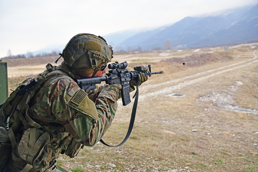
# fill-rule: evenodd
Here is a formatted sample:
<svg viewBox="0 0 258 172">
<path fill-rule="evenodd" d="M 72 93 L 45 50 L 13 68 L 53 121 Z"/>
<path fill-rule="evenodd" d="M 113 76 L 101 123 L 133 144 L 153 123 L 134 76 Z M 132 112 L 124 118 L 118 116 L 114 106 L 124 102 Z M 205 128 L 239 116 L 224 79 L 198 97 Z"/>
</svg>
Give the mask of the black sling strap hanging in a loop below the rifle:
<svg viewBox="0 0 258 172">
<path fill-rule="evenodd" d="M 135 114 L 136 114 L 136 108 L 137 108 L 137 103 L 138 103 L 138 94 L 139 94 L 138 87 L 136 87 L 136 93 L 134 95 L 135 100 L 134 100 L 134 103 L 133 103 L 133 110 L 132 110 L 132 114 L 131 114 L 131 120 L 130 120 L 129 128 L 128 128 L 128 131 L 127 131 L 127 134 L 126 134 L 124 140 L 120 144 L 118 144 L 116 146 L 110 146 L 107 143 L 105 143 L 102 139 L 100 139 L 101 143 L 103 143 L 106 146 L 110 146 L 110 147 L 118 147 L 118 146 L 121 146 L 122 144 L 124 144 L 127 141 L 127 139 L 129 138 L 129 136 L 130 136 L 130 134 L 132 132 L 132 129 L 133 129 L 133 124 L 134 124 L 134 119 L 135 119 Z"/>
</svg>

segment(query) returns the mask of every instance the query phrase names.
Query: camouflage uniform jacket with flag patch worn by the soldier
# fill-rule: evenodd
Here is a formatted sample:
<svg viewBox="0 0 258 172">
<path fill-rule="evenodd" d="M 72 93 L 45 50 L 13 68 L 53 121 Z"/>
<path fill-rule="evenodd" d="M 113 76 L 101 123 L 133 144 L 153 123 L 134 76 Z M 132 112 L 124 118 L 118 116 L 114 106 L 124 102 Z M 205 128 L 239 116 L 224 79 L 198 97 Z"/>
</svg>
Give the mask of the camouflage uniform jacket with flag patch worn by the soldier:
<svg viewBox="0 0 258 172">
<path fill-rule="evenodd" d="M 56 69 L 64 70 L 74 78 L 64 62 Z M 98 87 L 78 105 L 78 102 L 76 104 L 71 99 L 80 96 L 78 94 L 84 91 L 71 78 L 55 81 L 36 94 L 32 100 L 36 106 L 31 108 L 31 118 L 47 131 L 63 132 L 65 127 L 76 141 L 93 146 L 110 127 L 115 117 L 118 90 L 105 92 L 102 91 L 103 86 Z M 42 99 L 39 100 L 38 97 Z"/>
</svg>

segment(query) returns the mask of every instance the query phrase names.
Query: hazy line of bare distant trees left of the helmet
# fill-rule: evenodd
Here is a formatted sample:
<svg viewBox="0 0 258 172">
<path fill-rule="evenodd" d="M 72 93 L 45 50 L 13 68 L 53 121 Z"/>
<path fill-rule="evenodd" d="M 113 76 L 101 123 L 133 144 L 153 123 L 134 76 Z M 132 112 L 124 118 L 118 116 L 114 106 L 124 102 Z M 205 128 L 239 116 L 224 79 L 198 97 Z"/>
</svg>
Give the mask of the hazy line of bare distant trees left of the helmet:
<svg viewBox="0 0 258 172">
<path fill-rule="evenodd" d="M 31 51 L 27 51 L 26 54 L 12 55 L 11 50 L 7 51 L 7 56 L 1 59 L 20 59 L 20 58 L 36 58 L 36 57 L 49 57 L 49 56 L 58 56 L 60 53 L 59 50 L 52 50 L 51 53 L 39 52 L 34 55 Z"/>
</svg>

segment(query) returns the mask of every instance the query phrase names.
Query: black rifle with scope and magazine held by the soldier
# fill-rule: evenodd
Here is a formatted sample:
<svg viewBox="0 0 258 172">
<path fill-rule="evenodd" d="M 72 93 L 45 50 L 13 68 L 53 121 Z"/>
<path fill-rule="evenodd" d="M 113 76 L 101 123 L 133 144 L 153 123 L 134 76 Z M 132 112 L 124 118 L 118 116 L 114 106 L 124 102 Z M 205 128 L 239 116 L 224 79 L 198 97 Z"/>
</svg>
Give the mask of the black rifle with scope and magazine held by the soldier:
<svg viewBox="0 0 258 172">
<path fill-rule="evenodd" d="M 90 77 L 90 78 L 77 78 L 75 79 L 78 86 L 83 89 L 86 93 L 91 89 L 96 88 L 95 84 L 100 84 L 102 81 L 105 81 L 106 84 L 121 84 L 121 98 L 123 105 L 127 105 L 131 102 L 129 87 L 130 80 L 136 79 L 140 72 L 146 76 L 151 76 L 153 74 L 160 74 L 163 71 L 151 72 L 150 64 L 148 66 L 136 66 L 134 71 L 126 69 L 127 62 L 115 62 L 108 64 L 108 68 L 111 69 L 106 73 L 105 76 Z"/>
</svg>

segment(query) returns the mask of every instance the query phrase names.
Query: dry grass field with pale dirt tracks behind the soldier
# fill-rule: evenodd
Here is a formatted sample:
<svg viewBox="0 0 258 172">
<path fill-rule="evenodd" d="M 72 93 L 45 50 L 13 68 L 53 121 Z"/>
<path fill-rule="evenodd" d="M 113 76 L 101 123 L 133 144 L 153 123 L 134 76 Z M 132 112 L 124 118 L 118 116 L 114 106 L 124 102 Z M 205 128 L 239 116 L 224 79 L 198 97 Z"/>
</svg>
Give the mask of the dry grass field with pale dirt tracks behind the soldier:
<svg viewBox="0 0 258 172">
<path fill-rule="evenodd" d="M 84 147 L 73 159 L 60 155 L 58 164 L 74 172 L 258 171 L 258 46 L 228 49 L 115 54 L 113 61 L 127 61 L 129 70 L 151 64 L 152 71 L 164 73 L 139 87 L 134 128 L 124 145 Z M 10 64 L 9 89 L 48 62 L 39 58 L 28 70 L 31 63 Z M 112 145 L 126 135 L 133 103 L 118 105 L 103 137 Z"/>
</svg>

